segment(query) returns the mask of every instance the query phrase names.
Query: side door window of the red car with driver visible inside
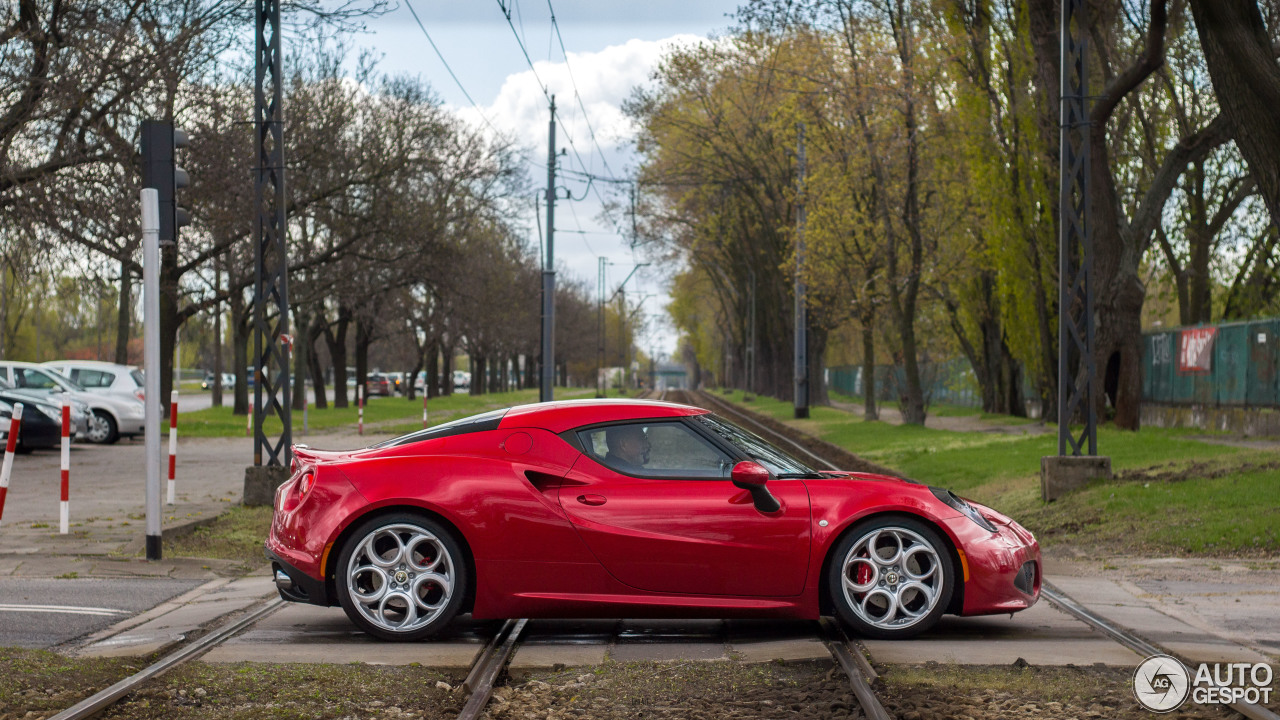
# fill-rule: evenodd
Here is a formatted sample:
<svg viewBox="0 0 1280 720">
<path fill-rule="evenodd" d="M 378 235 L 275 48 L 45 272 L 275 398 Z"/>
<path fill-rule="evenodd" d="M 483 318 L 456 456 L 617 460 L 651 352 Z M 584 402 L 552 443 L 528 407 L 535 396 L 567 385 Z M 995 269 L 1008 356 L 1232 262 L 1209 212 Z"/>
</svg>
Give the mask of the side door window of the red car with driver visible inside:
<svg viewBox="0 0 1280 720">
<path fill-rule="evenodd" d="M 643 478 L 727 478 L 732 459 L 684 423 L 626 423 L 579 432 L 596 462 Z"/>
</svg>

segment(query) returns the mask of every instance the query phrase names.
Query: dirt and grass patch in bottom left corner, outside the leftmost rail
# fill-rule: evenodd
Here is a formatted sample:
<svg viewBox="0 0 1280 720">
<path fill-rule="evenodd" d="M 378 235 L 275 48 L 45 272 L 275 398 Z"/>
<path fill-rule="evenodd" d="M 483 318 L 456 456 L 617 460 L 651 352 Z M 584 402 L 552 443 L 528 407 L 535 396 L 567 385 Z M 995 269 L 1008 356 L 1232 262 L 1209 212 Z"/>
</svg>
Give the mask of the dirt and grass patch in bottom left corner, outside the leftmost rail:
<svg viewBox="0 0 1280 720">
<path fill-rule="evenodd" d="M 141 664 L 134 659 L 68 659 L 46 650 L 0 647 L 0 720 L 49 716 L 101 691 Z"/>
</svg>

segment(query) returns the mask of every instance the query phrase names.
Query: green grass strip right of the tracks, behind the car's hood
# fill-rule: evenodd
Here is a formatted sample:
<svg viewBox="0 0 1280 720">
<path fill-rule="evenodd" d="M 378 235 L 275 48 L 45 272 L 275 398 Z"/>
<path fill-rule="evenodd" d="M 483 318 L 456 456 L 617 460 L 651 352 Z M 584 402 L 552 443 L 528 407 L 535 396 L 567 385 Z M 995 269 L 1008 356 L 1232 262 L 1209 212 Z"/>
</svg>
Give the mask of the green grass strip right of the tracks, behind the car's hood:
<svg viewBox="0 0 1280 720">
<path fill-rule="evenodd" d="M 1098 451 L 1117 478 L 1094 482 L 1053 503 L 1039 498 L 1039 461 L 1057 454 L 1057 433 L 951 432 L 868 423 L 860 414 L 813 407 L 792 419 L 790 402 L 758 397 L 744 407 L 786 421 L 870 461 L 951 488 L 1019 519 L 1046 544 L 1112 552 L 1238 555 L 1280 550 L 1274 452 L 1194 439 L 1193 429 L 1098 429 Z M 996 416 L 992 424 L 1006 425 Z M 1140 470 L 1148 470 L 1147 474 Z M 1149 477 L 1147 477 L 1149 475 Z"/>
</svg>

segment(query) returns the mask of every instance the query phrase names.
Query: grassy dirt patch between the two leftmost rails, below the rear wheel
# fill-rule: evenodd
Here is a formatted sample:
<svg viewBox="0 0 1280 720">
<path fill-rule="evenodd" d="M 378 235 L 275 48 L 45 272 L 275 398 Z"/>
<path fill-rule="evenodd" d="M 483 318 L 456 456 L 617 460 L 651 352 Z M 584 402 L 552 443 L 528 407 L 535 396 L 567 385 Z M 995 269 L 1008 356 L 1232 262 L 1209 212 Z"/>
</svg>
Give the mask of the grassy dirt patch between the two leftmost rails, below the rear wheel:
<svg viewBox="0 0 1280 720">
<path fill-rule="evenodd" d="M 428 667 L 192 662 L 148 683 L 102 717 L 257 720 L 456 717 L 462 682 Z"/>
</svg>

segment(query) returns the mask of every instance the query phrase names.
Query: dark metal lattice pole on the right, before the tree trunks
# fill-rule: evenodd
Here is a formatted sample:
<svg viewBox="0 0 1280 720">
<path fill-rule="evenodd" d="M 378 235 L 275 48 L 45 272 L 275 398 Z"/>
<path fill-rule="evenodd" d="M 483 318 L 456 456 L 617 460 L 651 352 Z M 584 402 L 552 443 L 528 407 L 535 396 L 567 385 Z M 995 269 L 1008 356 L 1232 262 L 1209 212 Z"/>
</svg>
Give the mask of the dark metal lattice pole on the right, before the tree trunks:
<svg viewBox="0 0 1280 720">
<path fill-rule="evenodd" d="M 1089 232 L 1088 23 L 1084 0 L 1062 0 L 1059 196 L 1057 454 L 1098 454 Z M 1079 413 L 1084 428 L 1070 423 Z"/>
</svg>

